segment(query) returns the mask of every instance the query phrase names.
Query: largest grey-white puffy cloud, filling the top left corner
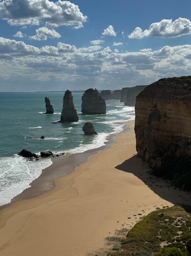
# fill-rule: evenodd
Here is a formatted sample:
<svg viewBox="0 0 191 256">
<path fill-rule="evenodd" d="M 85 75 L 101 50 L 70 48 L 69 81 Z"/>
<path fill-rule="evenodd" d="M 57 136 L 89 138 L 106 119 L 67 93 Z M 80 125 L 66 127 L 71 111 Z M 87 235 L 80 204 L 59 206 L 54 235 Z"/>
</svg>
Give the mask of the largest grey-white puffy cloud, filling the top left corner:
<svg viewBox="0 0 191 256">
<path fill-rule="evenodd" d="M 3 0 L 0 2 L 0 18 L 15 26 L 43 22 L 47 27 L 72 25 L 74 28 L 81 28 L 87 20 L 78 5 L 62 0 Z"/>
</svg>

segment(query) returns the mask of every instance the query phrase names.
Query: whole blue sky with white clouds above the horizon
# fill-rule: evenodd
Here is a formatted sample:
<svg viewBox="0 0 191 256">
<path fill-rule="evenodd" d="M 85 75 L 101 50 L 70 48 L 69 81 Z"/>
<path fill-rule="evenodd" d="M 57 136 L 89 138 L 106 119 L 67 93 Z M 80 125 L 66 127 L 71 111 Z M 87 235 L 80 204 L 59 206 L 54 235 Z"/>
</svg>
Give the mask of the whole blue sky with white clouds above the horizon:
<svg viewBox="0 0 191 256">
<path fill-rule="evenodd" d="M 0 0 L 0 91 L 121 89 L 191 74 L 190 0 Z"/>
</svg>

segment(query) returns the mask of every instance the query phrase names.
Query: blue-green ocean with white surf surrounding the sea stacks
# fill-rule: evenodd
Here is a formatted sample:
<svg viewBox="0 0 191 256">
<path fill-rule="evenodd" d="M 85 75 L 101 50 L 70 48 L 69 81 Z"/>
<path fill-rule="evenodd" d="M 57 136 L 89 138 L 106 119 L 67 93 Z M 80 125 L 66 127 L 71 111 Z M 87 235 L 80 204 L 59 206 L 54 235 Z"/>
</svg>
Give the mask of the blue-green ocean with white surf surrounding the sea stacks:
<svg viewBox="0 0 191 256">
<path fill-rule="evenodd" d="M 52 164 L 50 158 L 29 161 L 17 155 L 22 149 L 40 155 L 42 150 L 74 154 L 105 145 L 111 134 L 123 130 L 123 122 L 134 120 L 134 107 L 119 100 L 108 100 L 107 113 L 81 114 L 83 92 L 72 92 L 79 121 L 59 123 L 64 92 L 0 92 L 0 205 L 30 187 L 42 170 Z M 54 114 L 44 114 L 44 97 L 49 97 Z M 85 122 L 92 122 L 98 135 L 84 135 Z M 40 139 L 41 136 L 45 139 Z"/>
</svg>

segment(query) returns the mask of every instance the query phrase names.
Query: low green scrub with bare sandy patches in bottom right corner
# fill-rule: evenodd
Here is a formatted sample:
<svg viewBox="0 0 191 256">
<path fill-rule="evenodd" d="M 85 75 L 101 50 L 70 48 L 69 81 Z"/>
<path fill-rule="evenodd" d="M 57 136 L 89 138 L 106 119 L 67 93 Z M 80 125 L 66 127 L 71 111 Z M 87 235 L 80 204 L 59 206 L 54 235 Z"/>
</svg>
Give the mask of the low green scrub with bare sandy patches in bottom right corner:
<svg viewBox="0 0 191 256">
<path fill-rule="evenodd" d="M 185 245 L 189 239 L 191 206 L 172 206 L 147 215 L 128 232 L 126 239 L 121 241 L 121 248 L 108 255 L 132 256 L 146 250 L 148 255 L 150 252 L 156 256 L 186 256 Z"/>
</svg>

